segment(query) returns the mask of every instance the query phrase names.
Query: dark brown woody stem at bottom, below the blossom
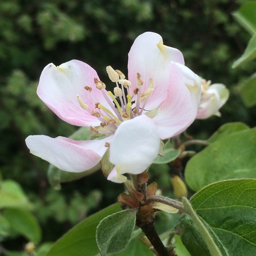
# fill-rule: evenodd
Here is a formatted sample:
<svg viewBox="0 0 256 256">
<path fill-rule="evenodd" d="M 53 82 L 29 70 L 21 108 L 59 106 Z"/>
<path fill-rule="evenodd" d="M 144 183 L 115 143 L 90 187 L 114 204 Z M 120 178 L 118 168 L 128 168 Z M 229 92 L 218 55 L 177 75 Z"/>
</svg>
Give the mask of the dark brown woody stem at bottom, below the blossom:
<svg viewBox="0 0 256 256">
<path fill-rule="evenodd" d="M 144 234 L 148 237 L 148 240 L 158 252 L 159 256 L 170 256 L 168 250 L 156 232 L 154 220 L 150 222 L 136 220 L 136 226 L 141 228 Z"/>
</svg>

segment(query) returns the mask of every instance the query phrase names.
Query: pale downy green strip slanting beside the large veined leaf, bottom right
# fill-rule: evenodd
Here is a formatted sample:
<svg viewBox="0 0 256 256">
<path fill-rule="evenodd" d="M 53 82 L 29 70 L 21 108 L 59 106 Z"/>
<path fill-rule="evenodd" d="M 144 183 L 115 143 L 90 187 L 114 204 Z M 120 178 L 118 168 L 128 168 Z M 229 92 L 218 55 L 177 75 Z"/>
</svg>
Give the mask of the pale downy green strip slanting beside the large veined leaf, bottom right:
<svg viewBox="0 0 256 256">
<path fill-rule="evenodd" d="M 186 197 L 182 198 L 182 203 L 184 205 L 184 210 L 185 212 L 191 217 L 191 219 L 195 222 L 199 233 L 204 239 L 204 242 L 206 243 L 210 253 L 212 256 L 222 256 L 219 248 L 217 245 L 214 243 L 212 236 L 210 235 L 209 231 L 207 228 L 205 228 L 204 224 L 202 221 L 199 219 L 197 216 L 196 212 L 193 210 L 191 204 L 189 203 L 188 199 Z"/>
</svg>

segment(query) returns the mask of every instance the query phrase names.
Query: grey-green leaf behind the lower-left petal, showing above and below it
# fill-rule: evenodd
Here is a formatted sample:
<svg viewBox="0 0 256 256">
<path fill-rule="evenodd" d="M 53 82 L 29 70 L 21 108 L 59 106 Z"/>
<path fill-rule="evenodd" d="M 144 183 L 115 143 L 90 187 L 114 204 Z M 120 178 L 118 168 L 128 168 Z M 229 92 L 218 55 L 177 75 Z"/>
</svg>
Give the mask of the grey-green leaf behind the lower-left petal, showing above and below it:
<svg viewBox="0 0 256 256">
<path fill-rule="evenodd" d="M 69 136 L 69 138 L 72 140 L 87 140 L 88 132 L 89 132 L 88 127 L 81 127 L 76 132 L 74 132 L 71 136 Z M 96 172 L 99 169 L 100 169 L 100 163 L 84 172 L 65 172 L 53 166 L 52 164 L 50 164 L 47 175 L 48 175 L 48 180 L 52 185 L 52 187 L 56 190 L 60 190 L 61 189 L 60 183 L 78 180 L 80 178 L 83 178 L 85 176 L 92 174 L 93 172 Z"/>
</svg>

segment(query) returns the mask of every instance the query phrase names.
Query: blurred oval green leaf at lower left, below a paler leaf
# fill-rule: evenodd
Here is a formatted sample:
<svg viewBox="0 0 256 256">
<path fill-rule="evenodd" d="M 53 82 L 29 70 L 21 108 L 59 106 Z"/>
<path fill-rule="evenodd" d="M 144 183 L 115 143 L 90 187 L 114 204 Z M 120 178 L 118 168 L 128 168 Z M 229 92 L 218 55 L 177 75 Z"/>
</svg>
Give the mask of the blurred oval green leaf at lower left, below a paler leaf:
<svg viewBox="0 0 256 256">
<path fill-rule="evenodd" d="M 36 218 L 25 210 L 5 209 L 3 216 L 9 221 L 11 228 L 28 238 L 34 244 L 41 240 L 41 229 Z"/>
</svg>

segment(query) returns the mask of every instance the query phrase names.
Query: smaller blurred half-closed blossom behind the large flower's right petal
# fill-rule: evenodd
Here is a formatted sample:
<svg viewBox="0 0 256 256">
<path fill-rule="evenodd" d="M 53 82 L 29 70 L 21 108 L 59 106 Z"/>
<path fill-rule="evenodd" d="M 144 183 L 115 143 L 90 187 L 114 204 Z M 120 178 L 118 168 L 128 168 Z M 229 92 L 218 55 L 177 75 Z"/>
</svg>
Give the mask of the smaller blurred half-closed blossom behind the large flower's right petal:
<svg viewBox="0 0 256 256">
<path fill-rule="evenodd" d="M 201 78 L 202 94 L 197 119 L 206 119 L 212 115 L 221 116 L 219 109 L 226 103 L 229 91 L 224 84 L 212 84 Z"/>
</svg>

